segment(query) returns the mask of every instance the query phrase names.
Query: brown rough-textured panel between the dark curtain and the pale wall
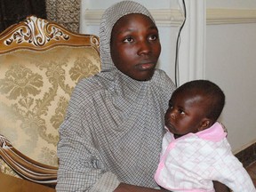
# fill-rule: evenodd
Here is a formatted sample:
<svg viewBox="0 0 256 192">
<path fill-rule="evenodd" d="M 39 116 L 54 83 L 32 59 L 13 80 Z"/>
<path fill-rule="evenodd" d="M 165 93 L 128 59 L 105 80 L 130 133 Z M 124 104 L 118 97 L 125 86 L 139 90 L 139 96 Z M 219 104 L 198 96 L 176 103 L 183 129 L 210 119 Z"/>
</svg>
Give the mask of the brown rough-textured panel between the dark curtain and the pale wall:
<svg viewBox="0 0 256 192">
<path fill-rule="evenodd" d="M 46 14 L 48 20 L 78 33 L 81 0 L 46 0 Z"/>
</svg>

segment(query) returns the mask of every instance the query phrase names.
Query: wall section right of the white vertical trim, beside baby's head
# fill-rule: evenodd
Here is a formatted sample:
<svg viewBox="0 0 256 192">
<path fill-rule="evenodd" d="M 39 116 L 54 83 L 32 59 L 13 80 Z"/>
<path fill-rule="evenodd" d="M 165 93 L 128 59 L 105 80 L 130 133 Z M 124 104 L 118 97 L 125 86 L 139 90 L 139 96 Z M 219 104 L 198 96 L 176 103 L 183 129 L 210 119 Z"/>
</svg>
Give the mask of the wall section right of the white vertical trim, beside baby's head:
<svg viewBox="0 0 256 192">
<path fill-rule="evenodd" d="M 220 119 L 236 153 L 256 141 L 256 1 L 207 0 L 207 8 L 220 18 L 207 23 L 205 76 L 226 93 Z"/>
</svg>

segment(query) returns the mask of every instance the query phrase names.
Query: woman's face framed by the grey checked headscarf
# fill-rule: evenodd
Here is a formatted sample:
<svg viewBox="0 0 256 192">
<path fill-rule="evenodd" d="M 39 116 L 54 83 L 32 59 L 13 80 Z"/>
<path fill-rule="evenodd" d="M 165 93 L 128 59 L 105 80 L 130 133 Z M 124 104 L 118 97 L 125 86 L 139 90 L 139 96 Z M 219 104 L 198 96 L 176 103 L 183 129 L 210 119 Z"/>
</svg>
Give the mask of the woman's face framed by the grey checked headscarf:
<svg viewBox="0 0 256 192">
<path fill-rule="evenodd" d="M 161 52 L 156 25 L 142 14 L 125 15 L 112 29 L 110 50 L 118 70 L 135 80 L 148 81 Z"/>
</svg>

